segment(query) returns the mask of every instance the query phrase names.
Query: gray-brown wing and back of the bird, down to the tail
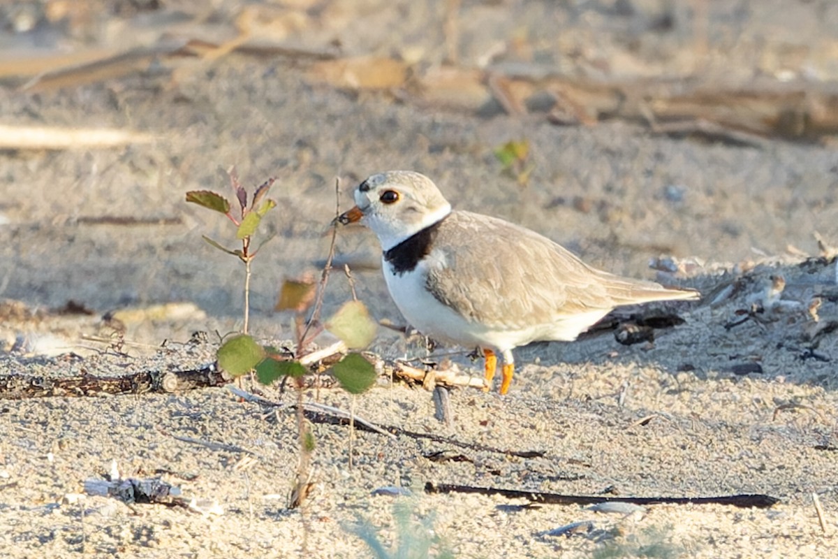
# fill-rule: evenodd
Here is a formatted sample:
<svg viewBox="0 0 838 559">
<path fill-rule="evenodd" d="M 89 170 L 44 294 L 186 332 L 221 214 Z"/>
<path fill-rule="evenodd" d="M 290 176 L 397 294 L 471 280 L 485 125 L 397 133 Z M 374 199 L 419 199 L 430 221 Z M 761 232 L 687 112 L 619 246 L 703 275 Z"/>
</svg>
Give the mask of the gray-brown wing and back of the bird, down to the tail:
<svg viewBox="0 0 838 559">
<path fill-rule="evenodd" d="M 429 272 L 428 289 L 464 317 L 489 326 L 547 324 L 621 304 L 692 298 L 596 270 L 546 237 L 486 215 L 452 212 L 434 249 L 442 251 L 447 266 Z"/>
</svg>

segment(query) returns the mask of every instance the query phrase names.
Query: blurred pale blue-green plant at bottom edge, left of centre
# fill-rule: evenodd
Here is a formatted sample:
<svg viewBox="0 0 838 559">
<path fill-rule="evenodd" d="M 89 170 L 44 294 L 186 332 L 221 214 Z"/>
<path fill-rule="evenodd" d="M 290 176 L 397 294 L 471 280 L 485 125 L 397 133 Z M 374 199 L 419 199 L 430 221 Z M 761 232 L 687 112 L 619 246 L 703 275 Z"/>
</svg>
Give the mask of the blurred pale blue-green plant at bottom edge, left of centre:
<svg viewBox="0 0 838 559">
<path fill-rule="evenodd" d="M 414 507 L 408 502 L 398 500 L 393 504 L 393 520 L 396 521 L 394 549 L 385 547 L 370 520 L 345 525 L 344 530 L 364 541 L 377 559 L 453 559 L 453 551 L 433 530 L 433 515 L 413 520 L 415 514 Z"/>
</svg>

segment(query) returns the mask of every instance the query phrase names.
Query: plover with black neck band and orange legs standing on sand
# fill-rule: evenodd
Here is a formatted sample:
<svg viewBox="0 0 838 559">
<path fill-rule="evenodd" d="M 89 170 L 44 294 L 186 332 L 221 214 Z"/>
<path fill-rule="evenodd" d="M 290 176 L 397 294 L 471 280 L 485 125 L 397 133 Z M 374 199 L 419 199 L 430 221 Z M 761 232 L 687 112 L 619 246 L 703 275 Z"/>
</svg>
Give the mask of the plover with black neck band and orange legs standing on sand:
<svg viewBox="0 0 838 559">
<path fill-rule="evenodd" d="M 572 341 L 622 305 L 700 297 L 597 270 L 533 230 L 453 210 L 422 173 L 376 173 L 353 194 L 355 206 L 334 222 L 360 222 L 378 237 L 401 314 L 424 335 L 482 349 L 487 390 L 500 355 L 502 395 L 515 371 L 512 349 Z"/>
</svg>

